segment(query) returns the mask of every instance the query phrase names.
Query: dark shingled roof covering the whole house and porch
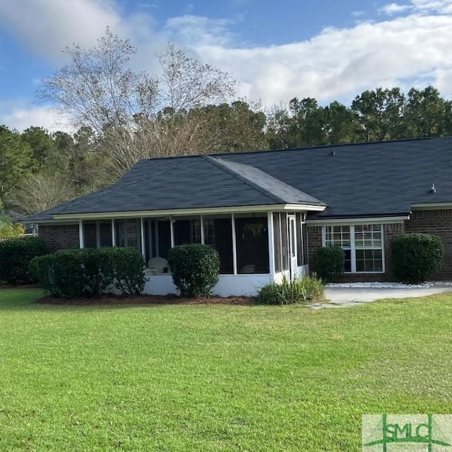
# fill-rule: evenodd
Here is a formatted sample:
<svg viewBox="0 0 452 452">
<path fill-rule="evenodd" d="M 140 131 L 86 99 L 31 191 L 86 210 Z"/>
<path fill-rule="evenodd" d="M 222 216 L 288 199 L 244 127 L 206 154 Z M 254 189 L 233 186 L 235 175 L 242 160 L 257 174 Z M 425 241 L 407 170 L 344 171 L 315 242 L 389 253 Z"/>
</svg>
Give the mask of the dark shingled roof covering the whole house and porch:
<svg viewBox="0 0 452 452">
<path fill-rule="evenodd" d="M 452 203 L 451 176 L 452 137 L 150 159 L 44 215 L 276 203 L 328 206 L 310 218 L 406 215 Z"/>
</svg>

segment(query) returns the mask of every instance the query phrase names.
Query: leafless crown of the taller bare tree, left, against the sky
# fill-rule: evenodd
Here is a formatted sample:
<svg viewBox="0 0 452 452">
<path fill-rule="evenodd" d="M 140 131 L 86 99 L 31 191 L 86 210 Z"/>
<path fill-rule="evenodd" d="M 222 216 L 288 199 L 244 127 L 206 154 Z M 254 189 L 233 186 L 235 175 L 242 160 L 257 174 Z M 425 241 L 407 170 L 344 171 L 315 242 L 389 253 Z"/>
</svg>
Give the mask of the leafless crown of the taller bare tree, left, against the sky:
<svg viewBox="0 0 452 452">
<path fill-rule="evenodd" d="M 127 126 L 133 117 L 151 117 L 158 106 L 159 81 L 133 72 L 129 61 L 136 48 L 107 28 L 92 49 L 78 44 L 63 51 L 70 64 L 42 82 L 40 100 L 52 102 L 73 125 L 91 127 L 99 135 L 106 126 Z"/>
</svg>

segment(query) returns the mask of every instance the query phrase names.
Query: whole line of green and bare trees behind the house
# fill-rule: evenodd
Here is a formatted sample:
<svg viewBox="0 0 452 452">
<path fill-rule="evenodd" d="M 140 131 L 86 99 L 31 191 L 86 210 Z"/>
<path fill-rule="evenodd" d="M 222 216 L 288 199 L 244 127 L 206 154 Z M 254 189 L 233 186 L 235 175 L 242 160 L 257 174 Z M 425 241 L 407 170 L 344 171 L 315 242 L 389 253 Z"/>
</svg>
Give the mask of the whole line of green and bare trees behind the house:
<svg viewBox="0 0 452 452">
<path fill-rule="evenodd" d="M 366 90 L 350 105 L 313 97 L 263 109 L 236 82 L 167 44 L 160 72 L 130 69 L 136 52 L 107 29 L 37 93 L 75 133 L 0 126 L 0 211 L 35 213 L 112 184 L 143 158 L 452 135 L 452 102 L 436 88 Z"/>
</svg>

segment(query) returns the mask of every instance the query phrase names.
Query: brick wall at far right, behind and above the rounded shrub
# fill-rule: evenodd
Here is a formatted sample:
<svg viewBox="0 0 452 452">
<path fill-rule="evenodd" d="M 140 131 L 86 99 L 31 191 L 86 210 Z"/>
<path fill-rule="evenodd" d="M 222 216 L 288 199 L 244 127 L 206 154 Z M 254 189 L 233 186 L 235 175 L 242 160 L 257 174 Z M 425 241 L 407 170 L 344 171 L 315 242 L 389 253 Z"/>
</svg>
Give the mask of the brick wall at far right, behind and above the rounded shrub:
<svg viewBox="0 0 452 452">
<path fill-rule="evenodd" d="M 444 266 L 434 280 L 452 278 L 452 209 L 413 210 L 405 221 L 405 232 L 424 232 L 441 237 L 444 243 Z"/>
</svg>

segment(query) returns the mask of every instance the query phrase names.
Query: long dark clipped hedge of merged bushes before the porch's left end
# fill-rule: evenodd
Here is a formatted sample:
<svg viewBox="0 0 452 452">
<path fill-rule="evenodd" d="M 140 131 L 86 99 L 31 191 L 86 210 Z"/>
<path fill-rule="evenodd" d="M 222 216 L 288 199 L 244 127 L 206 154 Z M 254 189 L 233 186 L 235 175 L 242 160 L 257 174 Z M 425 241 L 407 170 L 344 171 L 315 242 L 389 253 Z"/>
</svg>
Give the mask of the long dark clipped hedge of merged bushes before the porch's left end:
<svg viewBox="0 0 452 452">
<path fill-rule="evenodd" d="M 34 258 L 30 272 L 54 297 L 99 297 L 108 287 L 139 295 L 145 263 L 131 248 L 64 249 Z"/>
</svg>

